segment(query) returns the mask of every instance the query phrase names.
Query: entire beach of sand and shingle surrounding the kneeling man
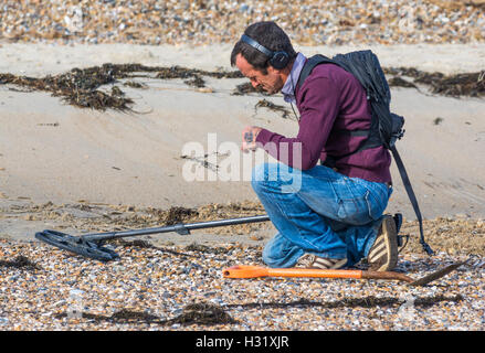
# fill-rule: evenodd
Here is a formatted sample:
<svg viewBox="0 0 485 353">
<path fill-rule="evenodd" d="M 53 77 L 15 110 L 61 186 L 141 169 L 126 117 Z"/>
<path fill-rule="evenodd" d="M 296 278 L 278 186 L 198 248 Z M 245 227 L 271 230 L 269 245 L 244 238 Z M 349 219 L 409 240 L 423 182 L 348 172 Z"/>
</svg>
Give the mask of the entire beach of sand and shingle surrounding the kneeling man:
<svg viewBox="0 0 485 353">
<path fill-rule="evenodd" d="M 420 278 L 468 260 L 426 287 L 222 278 L 231 265 L 264 266 L 270 223 L 114 242 L 120 258 L 106 264 L 36 240 L 45 228 L 82 235 L 264 214 L 247 178 L 254 154 L 239 151 L 241 130 L 257 125 L 291 137 L 298 127 L 281 94 L 242 93 L 246 78 L 222 75 L 234 72 L 235 33 L 268 17 L 263 2 L 65 1 L 38 11 L 36 2 L 8 1 L 0 18 L 0 302 L 9 304 L 0 304 L 0 330 L 483 331 L 485 99 L 432 89 L 446 75 L 485 79 L 481 1 L 273 8 L 297 29 L 295 49 L 307 56 L 370 49 L 387 69 L 432 77 L 430 85 L 387 74 L 408 83 L 391 86 L 391 108 L 405 118 L 398 150 L 435 250 L 428 256 L 418 242 L 392 163 L 386 212 L 404 215 L 401 234 L 410 237 L 397 271 Z M 308 9 L 312 19 L 302 15 L 298 26 L 293 14 Z M 167 69 L 96 88 L 130 101 L 126 110 L 82 108 L 14 83 L 52 84 L 74 68 L 116 65 Z M 169 77 L 180 72 L 187 77 Z M 241 170 L 231 174 L 233 160 Z M 76 296 L 82 314 L 73 317 Z"/>
</svg>

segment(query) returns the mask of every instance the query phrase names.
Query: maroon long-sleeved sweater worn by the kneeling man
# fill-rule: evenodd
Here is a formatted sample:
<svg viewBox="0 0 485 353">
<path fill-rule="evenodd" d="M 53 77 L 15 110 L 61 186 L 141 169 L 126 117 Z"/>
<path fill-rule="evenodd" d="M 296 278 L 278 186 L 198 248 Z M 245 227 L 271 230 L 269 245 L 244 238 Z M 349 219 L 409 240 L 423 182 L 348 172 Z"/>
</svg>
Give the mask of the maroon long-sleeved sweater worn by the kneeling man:
<svg viewBox="0 0 485 353">
<path fill-rule="evenodd" d="M 339 173 L 368 181 L 391 182 L 391 156 L 384 147 L 339 159 L 356 151 L 365 139 L 340 131 L 370 127 L 370 105 L 357 78 L 337 65 L 318 65 L 296 89 L 295 96 L 301 114 L 298 135 L 287 138 L 267 129 L 257 135 L 256 142 L 262 143 L 272 157 L 289 167 L 308 170 L 331 156 L 337 159 L 335 168 Z M 302 151 L 301 161 L 287 152 L 293 148 Z"/>
</svg>

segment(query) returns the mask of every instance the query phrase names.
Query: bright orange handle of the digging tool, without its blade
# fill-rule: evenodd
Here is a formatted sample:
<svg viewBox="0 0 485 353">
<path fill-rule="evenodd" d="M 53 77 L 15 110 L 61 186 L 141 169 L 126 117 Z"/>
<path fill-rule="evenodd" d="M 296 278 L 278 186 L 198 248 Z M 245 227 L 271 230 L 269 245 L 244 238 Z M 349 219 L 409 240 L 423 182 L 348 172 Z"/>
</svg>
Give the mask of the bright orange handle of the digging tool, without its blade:
<svg viewBox="0 0 485 353">
<path fill-rule="evenodd" d="M 319 278 L 362 278 L 357 269 L 318 269 L 318 268 L 267 268 L 261 266 L 238 265 L 222 270 L 224 278 L 255 277 L 319 277 Z"/>
</svg>

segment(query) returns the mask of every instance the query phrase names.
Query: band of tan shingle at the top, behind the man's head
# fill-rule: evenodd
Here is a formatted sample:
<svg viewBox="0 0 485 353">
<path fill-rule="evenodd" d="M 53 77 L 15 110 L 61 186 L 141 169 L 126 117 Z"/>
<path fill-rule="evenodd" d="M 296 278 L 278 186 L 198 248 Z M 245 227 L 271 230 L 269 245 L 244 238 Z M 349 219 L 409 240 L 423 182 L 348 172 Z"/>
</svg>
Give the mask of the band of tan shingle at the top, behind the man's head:
<svg viewBox="0 0 485 353">
<path fill-rule="evenodd" d="M 276 21 L 303 45 L 476 43 L 483 1 L 42 1 L 0 4 L 0 40 L 10 42 L 204 45 L 234 43 L 251 23 Z"/>
</svg>

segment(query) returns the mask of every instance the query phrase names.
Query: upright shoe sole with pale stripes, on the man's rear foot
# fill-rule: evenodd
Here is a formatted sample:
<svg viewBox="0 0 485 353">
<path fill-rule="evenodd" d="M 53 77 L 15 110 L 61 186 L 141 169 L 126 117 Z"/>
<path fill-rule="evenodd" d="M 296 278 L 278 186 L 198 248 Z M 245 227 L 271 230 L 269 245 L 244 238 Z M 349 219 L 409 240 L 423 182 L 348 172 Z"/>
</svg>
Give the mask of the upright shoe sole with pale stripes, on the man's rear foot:
<svg viewBox="0 0 485 353">
<path fill-rule="evenodd" d="M 398 232 L 391 215 L 383 215 L 376 242 L 367 256 L 371 270 L 390 271 L 398 265 Z"/>
</svg>

